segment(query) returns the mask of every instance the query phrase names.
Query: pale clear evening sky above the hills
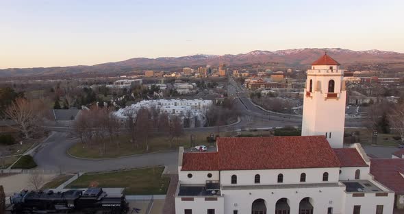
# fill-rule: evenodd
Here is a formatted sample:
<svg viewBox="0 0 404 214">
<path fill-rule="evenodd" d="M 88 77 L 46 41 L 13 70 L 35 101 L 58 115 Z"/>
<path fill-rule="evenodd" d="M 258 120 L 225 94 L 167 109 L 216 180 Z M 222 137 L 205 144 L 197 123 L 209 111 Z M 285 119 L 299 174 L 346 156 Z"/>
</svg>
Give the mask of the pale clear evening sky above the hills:
<svg viewBox="0 0 404 214">
<path fill-rule="evenodd" d="M 403 0 L 0 0 L 0 69 L 305 47 L 404 53 Z"/>
</svg>

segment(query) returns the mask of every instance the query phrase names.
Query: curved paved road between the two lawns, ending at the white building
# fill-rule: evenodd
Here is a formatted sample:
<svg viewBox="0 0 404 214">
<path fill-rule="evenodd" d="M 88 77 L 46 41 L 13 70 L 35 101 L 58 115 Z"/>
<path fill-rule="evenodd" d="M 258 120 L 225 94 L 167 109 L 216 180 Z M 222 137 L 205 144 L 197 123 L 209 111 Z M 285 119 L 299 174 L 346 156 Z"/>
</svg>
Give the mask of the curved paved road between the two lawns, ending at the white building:
<svg viewBox="0 0 404 214">
<path fill-rule="evenodd" d="M 144 154 L 108 160 L 77 159 L 66 154 L 68 148 L 75 142 L 77 141 L 71 139 L 66 132 L 53 132 L 52 136 L 43 143 L 39 152 L 34 155 L 34 160 L 40 169 L 62 172 L 108 171 L 155 165 L 177 165 L 177 152 Z"/>
</svg>

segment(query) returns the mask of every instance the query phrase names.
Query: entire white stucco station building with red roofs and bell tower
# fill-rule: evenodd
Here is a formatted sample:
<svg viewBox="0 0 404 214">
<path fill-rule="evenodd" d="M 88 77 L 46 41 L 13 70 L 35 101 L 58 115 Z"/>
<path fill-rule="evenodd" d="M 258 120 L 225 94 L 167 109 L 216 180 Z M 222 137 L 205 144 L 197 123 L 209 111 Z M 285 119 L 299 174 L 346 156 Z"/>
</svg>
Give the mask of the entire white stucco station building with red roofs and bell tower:
<svg viewBox="0 0 404 214">
<path fill-rule="evenodd" d="M 308 72 L 305 136 L 218 138 L 216 152 L 180 147 L 175 212 L 393 213 L 394 192 L 370 174 L 361 145 L 342 147 L 346 92 L 330 59 Z"/>
</svg>

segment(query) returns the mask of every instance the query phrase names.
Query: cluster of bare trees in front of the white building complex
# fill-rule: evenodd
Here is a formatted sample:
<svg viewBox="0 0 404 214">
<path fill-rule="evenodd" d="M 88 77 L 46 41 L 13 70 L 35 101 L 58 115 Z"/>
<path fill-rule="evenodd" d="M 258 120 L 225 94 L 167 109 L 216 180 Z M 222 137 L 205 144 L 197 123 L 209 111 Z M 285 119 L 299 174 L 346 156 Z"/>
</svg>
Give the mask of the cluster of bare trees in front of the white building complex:
<svg viewBox="0 0 404 214">
<path fill-rule="evenodd" d="M 127 108 L 123 116 L 125 118 L 117 117 L 112 107 L 92 106 L 89 110 L 81 110 L 73 130 L 83 145 L 97 145 L 101 155 L 108 152 L 106 143 L 119 148 L 121 141 L 118 136 L 124 132 L 129 135 L 133 148 L 142 146 L 147 152 L 153 132 L 163 132 L 168 137 L 170 147 L 173 147 L 174 139 L 177 140 L 184 133 L 179 116 L 170 116 L 158 108 Z"/>
</svg>

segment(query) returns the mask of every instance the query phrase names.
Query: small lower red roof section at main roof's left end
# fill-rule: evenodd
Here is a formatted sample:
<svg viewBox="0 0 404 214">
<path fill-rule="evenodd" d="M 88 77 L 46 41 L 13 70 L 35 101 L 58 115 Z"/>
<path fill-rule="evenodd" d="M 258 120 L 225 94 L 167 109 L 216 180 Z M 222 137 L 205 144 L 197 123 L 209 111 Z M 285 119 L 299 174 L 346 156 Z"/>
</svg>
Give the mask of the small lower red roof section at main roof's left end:
<svg viewBox="0 0 404 214">
<path fill-rule="evenodd" d="M 188 152 L 182 156 L 182 168 L 185 171 L 218 170 L 217 152 Z"/>
</svg>

